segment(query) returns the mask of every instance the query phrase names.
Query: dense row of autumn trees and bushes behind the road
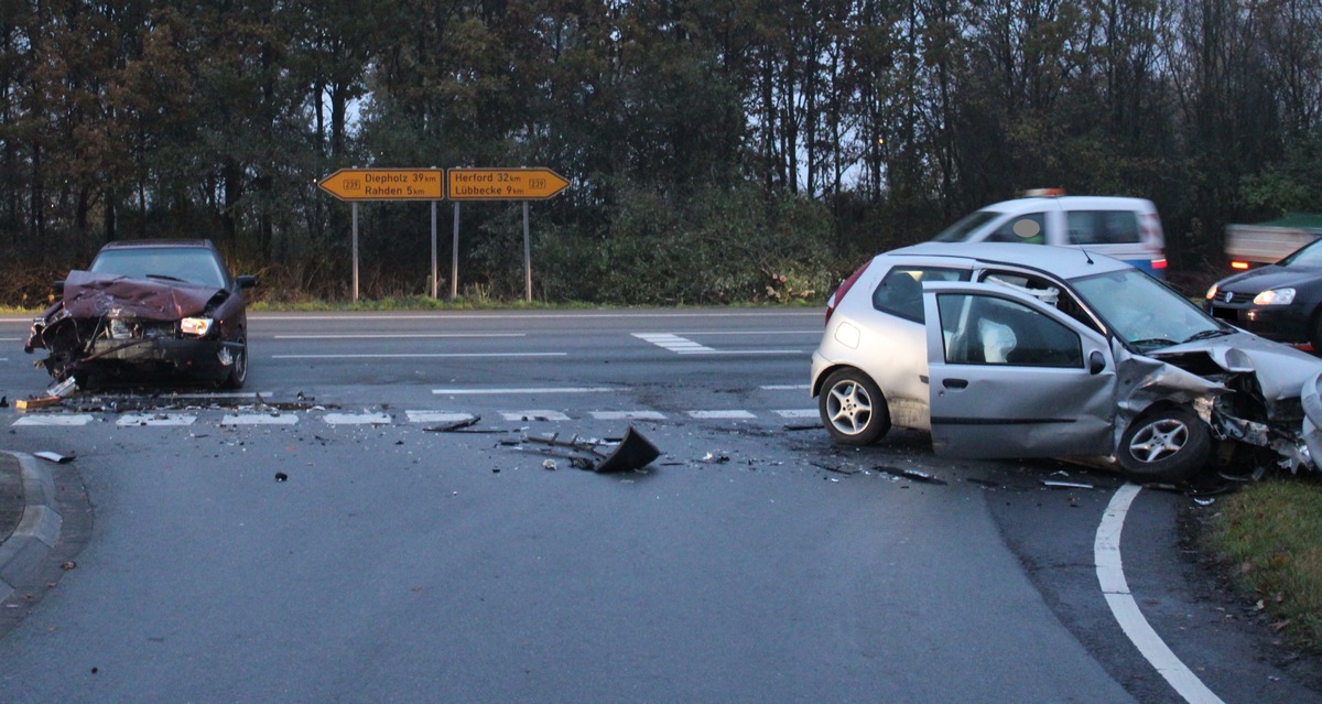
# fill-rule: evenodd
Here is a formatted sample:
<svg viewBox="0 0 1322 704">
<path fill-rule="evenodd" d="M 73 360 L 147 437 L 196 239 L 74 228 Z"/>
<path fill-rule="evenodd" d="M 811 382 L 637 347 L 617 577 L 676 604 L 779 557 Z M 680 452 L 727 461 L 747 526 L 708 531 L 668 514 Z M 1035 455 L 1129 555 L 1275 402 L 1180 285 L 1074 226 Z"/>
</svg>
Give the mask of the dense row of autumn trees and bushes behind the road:
<svg viewBox="0 0 1322 704">
<path fill-rule="evenodd" d="M 1188 275 L 1225 224 L 1322 209 L 1322 4 L 0 0 L 3 303 L 134 237 L 344 298 L 315 184 L 345 167 L 564 175 L 549 300 L 821 299 L 1042 187 L 1155 201 Z M 430 218 L 361 206 L 365 295 L 430 290 Z M 468 295 L 522 294 L 521 237 L 517 204 L 463 208 Z"/>
</svg>

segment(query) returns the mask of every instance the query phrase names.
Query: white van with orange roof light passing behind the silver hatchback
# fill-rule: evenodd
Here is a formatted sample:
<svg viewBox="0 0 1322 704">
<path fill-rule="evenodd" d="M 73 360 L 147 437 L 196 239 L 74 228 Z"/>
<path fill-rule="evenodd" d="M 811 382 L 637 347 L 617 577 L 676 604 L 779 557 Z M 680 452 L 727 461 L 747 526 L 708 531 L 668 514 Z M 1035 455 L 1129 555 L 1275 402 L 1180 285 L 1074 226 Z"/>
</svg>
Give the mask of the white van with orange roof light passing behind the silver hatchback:
<svg viewBox="0 0 1322 704">
<path fill-rule="evenodd" d="M 933 241 L 1073 246 L 1114 257 L 1155 278 L 1165 278 L 1166 270 L 1161 218 L 1144 198 L 1031 191 L 969 214 Z"/>
</svg>

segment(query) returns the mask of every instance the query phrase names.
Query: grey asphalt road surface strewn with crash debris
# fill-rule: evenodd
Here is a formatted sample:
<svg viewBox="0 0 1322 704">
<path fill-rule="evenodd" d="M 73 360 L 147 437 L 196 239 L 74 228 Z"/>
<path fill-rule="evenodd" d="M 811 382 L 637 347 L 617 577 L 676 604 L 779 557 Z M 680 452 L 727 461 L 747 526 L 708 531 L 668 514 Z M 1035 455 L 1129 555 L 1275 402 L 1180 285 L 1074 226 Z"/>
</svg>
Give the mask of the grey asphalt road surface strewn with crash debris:
<svg viewBox="0 0 1322 704">
<path fill-rule="evenodd" d="M 48 382 L 21 328 L 11 401 Z M 251 328 L 243 394 L 0 412 L 5 449 L 77 457 L 59 486 L 95 516 L 52 557 L 73 569 L 3 603 L 5 701 L 1186 700 L 1099 588 L 1122 482 L 798 429 L 820 310 Z M 631 425 L 664 453 L 642 472 L 520 442 Z M 1134 601 L 1214 697 L 1322 700 L 1188 560 L 1177 524 L 1206 509 L 1137 496 Z"/>
</svg>

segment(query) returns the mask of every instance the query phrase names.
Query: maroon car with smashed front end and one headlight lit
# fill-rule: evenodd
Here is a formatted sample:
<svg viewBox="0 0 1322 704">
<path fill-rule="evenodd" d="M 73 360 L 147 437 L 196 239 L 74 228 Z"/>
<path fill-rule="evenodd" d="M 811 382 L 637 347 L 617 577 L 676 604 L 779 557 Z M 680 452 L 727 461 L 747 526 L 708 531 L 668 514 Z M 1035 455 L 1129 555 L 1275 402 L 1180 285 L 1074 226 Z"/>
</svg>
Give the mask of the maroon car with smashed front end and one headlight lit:
<svg viewBox="0 0 1322 704">
<path fill-rule="evenodd" d="M 234 277 L 208 240 L 127 240 L 57 285 L 24 351 L 44 348 L 56 381 L 172 374 L 239 388 L 247 378 L 247 308 L 255 277 Z"/>
</svg>

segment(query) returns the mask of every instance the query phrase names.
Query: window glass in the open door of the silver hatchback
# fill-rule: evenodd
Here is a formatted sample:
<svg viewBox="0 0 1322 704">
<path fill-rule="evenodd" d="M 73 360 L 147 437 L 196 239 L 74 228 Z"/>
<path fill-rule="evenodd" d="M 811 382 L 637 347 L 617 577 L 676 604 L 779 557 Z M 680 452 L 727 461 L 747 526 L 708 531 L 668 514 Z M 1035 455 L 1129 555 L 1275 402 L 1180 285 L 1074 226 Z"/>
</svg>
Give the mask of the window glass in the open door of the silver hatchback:
<svg viewBox="0 0 1322 704">
<path fill-rule="evenodd" d="M 1083 367 L 1083 341 L 1072 330 L 1014 300 L 937 296 L 948 364 Z"/>
</svg>

